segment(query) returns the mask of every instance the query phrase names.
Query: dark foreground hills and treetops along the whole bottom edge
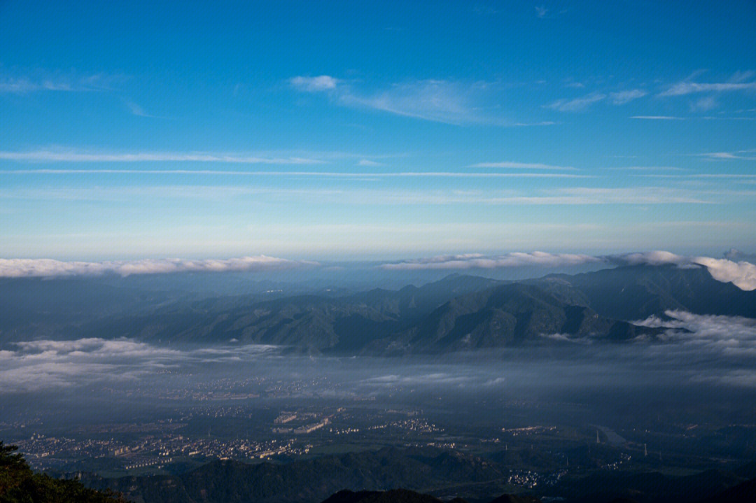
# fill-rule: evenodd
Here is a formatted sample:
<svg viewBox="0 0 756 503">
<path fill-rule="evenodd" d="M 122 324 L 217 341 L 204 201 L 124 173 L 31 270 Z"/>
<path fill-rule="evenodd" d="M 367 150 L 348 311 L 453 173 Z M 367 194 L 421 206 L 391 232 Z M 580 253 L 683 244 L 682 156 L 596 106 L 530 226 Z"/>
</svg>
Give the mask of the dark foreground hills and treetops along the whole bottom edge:
<svg viewBox="0 0 756 503">
<path fill-rule="evenodd" d="M 495 463 L 457 452 L 422 455 L 420 451 L 383 449 L 380 452 L 324 457 L 290 464 L 249 465 L 215 461 L 177 477 L 123 477 L 117 480 L 85 477 L 88 489 L 78 480 L 57 480 L 34 474 L 14 446 L 0 442 L 0 501 L 2 503 L 124 503 L 110 490 L 126 492 L 136 503 L 441 503 L 444 500 L 421 491 L 432 486 L 441 492 L 495 482 L 503 472 Z M 742 467 L 739 474 L 753 474 L 756 465 Z M 742 480 L 742 479 L 741 479 Z M 333 492 L 333 486 L 351 487 Z M 494 485 L 495 486 L 495 485 Z M 492 487 L 494 487 L 492 486 Z M 425 487 L 426 489 L 420 489 Z M 367 489 L 367 490 L 366 490 Z M 372 489 L 372 490 L 370 490 Z M 594 474 L 553 488 L 569 503 L 750 503 L 756 501 L 756 478 L 739 482 L 735 474 L 705 471 L 688 477 L 661 474 Z M 333 492 L 329 497 L 327 494 Z M 436 490 L 438 492 L 438 489 Z M 505 493 L 491 498 L 453 498 L 452 503 L 538 503 L 533 495 Z"/>
</svg>

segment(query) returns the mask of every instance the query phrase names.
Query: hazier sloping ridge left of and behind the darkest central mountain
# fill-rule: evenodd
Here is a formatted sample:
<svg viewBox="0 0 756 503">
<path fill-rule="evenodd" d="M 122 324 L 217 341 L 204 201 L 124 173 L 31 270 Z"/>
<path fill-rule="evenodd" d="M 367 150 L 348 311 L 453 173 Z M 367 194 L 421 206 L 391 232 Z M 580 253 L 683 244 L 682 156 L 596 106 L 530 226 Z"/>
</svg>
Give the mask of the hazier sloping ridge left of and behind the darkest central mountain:
<svg viewBox="0 0 756 503">
<path fill-rule="evenodd" d="M 449 299 L 498 283 L 453 275 L 420 288 L 374 289 L 339 298 L 300 295 L 271 301 L 250 299 L 246 303 L 243 299 L 180 303 L 132 316 L 99 319 L 86 326 L 83 335 L 203 344 L 236 339 L 243 344 L 358 353 L 371 341 L 414 326 Z"/>
</svg>

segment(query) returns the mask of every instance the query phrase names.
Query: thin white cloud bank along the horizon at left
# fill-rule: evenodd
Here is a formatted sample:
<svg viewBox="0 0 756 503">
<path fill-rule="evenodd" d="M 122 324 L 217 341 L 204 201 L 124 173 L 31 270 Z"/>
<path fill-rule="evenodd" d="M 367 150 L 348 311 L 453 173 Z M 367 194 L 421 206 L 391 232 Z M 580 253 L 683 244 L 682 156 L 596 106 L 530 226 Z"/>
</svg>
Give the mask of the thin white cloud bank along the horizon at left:
<svg viewBox="0 0 756 503">
<path fill-rule="evenodd" d="M 265 255 L 206 260 L 160 258 L 105 262 L 64 262 L 51 258 L 0 258 L 0 277 L 54 278 L 61 276 L 101 276 L 108 273 L 125 277 L 132 274 L 283 270 L 295 267 L 318 267 L 318 265 L 317 262 L 290 261 L 285 258 L 267 257 Z"/>
</svg>

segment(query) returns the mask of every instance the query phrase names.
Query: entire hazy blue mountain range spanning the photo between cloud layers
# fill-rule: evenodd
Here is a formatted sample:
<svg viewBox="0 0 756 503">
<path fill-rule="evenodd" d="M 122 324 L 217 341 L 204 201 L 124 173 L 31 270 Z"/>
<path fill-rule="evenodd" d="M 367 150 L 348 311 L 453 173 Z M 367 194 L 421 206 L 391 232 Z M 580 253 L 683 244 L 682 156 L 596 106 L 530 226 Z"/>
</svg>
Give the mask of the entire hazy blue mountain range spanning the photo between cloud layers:
<svg viewBox="0 0 756 503">
<path fill-rule="evenodd" d="M 119 289 L 112 280 L 92 291 L 86 285 L 3 282 L 0 296 L 11 299 L 3 323 L 11 326 L 0 327 L 2 341 L 75 334 L 163 343 L 238 341 L 314 353 L 442 353 L 560 338 L 652 337 L 658 330 L 627 321 L 664 316 L 665 310 L 756 317 L 756 291 L 719 282 L 703 267 L 618 267 L 525 282 L 451 275 L 419 288 L 271 300 L 245 295 L 192 301 L 135 291 L 131 283 Z M 23 300 L 29 313 L 14 310 L 13 299 Z M 48 322 L 25 323 L 25 316 Z"/>
</svg>

